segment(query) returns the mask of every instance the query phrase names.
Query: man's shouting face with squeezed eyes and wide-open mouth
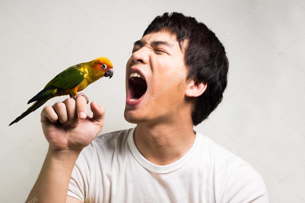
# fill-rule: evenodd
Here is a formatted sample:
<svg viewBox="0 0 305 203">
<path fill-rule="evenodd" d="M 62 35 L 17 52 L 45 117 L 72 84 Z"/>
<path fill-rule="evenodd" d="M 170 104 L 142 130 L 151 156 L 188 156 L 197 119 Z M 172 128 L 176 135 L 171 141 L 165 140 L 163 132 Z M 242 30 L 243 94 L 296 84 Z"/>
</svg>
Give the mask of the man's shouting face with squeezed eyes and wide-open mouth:
<svg viewBox="0 0 305 203">
<path fill-rule="evenodd" d="M 152 124 L 174 119 L 185 107 L 187 75 L 175 36 L 166 30 L 149 33 L 132 52 L 126 64 L 126 121 Z M 131 73 L 136 77 L 130 78 Z"/>
</svg>

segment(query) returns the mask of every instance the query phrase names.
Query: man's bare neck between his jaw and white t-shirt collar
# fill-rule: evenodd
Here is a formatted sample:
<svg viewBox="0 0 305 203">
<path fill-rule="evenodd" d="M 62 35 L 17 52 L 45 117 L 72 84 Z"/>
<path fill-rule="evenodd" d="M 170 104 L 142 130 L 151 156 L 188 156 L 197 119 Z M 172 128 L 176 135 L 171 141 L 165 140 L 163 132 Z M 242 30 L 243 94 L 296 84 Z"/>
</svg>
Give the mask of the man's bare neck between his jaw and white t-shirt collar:
<svg viewBox="0 0 305 203">
<path fill-rule="evenodd" d="M 134 140 L 139 152 L 151 163 L 168 165 L 184 156 L 195 142 L 193 125 L 138 124 Z"/>
</svg>

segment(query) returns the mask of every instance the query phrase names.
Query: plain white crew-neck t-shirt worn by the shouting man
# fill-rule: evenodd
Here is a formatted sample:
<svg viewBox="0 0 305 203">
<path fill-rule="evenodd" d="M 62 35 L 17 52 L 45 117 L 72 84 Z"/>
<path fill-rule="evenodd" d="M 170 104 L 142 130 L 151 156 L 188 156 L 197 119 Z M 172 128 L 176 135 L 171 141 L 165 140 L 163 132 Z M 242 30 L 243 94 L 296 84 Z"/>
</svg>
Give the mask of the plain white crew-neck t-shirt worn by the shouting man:
<svg viewBox="0 0 305 203">
<path fill-rule="evenodd" d="M 260 174 L 241 158 L 194 130 L 192 148 L 166 166 L 149 162 L 134 142 L 135 128 L 97 136 L 70 178 L 69 196 L 82 202 L 269 203 Z"/>
</svg>

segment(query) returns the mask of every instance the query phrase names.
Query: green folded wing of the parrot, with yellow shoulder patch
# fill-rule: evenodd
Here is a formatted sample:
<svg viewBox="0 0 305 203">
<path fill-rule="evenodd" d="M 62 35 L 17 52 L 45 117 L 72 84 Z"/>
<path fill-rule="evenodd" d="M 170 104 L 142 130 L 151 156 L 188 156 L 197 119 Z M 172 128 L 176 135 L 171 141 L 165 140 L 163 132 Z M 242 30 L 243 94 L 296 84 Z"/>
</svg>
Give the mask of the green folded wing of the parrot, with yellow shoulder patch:
<svg viewBox="0 0 305 203">
<path fill-rule="evenodd" d="M 83 64 L 77 64 L 56 75 L 43 90 L 28 101 L 28 104 L 40 98 L 54 95 L 66 89 L 79 85 L 88 75 L 88 70 Z"/>
</svg>

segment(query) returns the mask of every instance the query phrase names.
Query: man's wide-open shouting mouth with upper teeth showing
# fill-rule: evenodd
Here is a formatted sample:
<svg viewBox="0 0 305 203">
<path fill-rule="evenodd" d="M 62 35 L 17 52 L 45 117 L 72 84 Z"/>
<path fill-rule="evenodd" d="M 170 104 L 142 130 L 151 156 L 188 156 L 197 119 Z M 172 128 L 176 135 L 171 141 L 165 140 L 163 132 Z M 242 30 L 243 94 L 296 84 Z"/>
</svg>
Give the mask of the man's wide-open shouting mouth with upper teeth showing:
<svg viewBox="0 0 305 203">
<path fill-rule="evenodd" d="M 145 94 L 147 84 L 145 79 L 139 73 L 131 73 L 128 81 L 128 98 L 129 102 L 136 101 Z"/>
</svg>

